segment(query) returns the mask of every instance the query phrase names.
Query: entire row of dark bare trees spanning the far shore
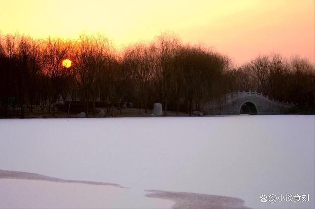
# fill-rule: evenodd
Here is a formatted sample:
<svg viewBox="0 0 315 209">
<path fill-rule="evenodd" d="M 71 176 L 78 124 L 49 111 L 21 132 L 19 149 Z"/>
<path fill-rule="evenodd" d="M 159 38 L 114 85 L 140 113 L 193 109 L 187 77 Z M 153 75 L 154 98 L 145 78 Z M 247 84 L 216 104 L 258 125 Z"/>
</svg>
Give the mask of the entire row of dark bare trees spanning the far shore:
<svg viewBox="0 0 315 209">
<path fill-rule="evenodd" d="M 64 59 L 71 60 L 70 67 L 63 66 Z M 124 102 L 132 102 L 139 114 L 156 102 L 166 115 L 169 110 L 191 114 L 237 90 L 257 90 L 309 110 L 315 105 L 315 66 L 279 54 L 234 66 L 224 54 L 183 44 L 167 33 L 121 51 L 103 35 L 83 34 L 77 40 L 0 36 L 1 117 L 14 108 L 24 117 L 34 106 L 53 117 L 66 106 L 69 114 L 78 101 L 91 115 L 95 104 L 114 115 Z"/>
</svg>

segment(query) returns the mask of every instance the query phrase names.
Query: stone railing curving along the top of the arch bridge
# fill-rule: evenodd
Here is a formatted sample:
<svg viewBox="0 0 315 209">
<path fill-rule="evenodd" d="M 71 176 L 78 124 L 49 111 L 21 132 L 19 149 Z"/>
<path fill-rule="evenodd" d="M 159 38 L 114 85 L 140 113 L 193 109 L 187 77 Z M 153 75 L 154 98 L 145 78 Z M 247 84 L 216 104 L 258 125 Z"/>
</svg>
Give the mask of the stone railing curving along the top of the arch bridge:
<svg viewBox="0 0 315 209">
<path fill-rule="evenodd" d="M 246 97 L 258 97 L 260 99 L 263 99 L 265 101 L 268 101 L 270 103 L 273 103 L 275 105 L 278 106 L 283 106 L 283 107 L 287 107 L 290 108 L 292 106 L 295 106 L 295 104 L 293 103 L 288 103 L 288 102 L 280 102 L 279 100 L 276 101 L 274 99 L 269 99 L 268 95 L 264 95 L 263 93 L 259 93 L 257 91 L 237 91 L 237 92 L 232 92 L 232 93 L 228 93 L 225 94 L 224 96 L 222 96 L 221 98 L 211 101 L 210 103 L 208 103 L 208 105 L 212 105 L 212 106 L 218 106 L 218 105 L 224 105 L 224 104 L 230 104 L 232 102 L 234 102 L 237 99 L 242 99 L 242 98 L 246 98 Z"/>
</svg>

